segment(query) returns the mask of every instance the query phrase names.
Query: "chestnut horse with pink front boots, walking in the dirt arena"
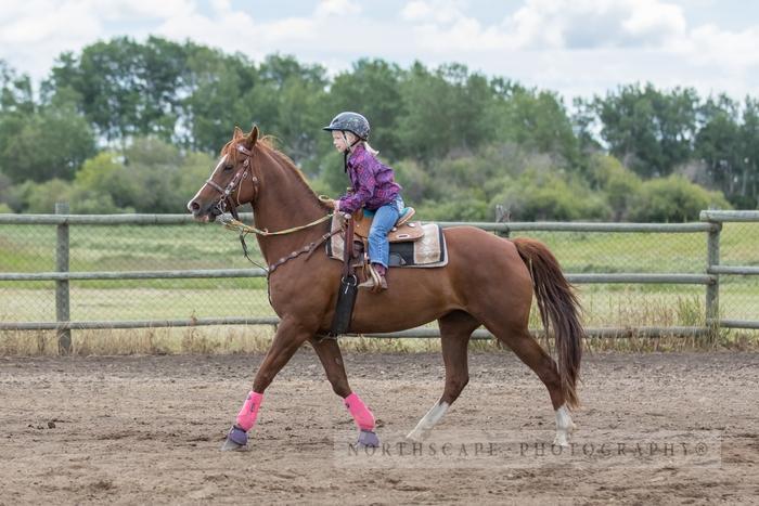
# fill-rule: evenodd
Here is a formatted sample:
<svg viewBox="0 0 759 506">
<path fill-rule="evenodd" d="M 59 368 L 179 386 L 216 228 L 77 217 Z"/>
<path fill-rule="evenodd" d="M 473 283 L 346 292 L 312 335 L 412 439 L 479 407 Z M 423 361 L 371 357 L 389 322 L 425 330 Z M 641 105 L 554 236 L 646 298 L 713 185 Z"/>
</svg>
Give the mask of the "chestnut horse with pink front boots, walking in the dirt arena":
<svg viewBox="0 0 759 506">
<path fill-rule="evenodd" d="M 318 337 L 327 334 L 331 326 L 342 264 L 327 258 L 321 247 L 312 255 L 297 255 L 312 243 L 323 243 L 329 232 L 324 218 L 330 210 L 293 161 L 267 139 L 258 139 L 255 126 L 247 134 L 235 128 L 210 178 L 188 209 L 197 220 L 214 221 L 248 203 L 261 254 L 267 264 L 276 264 L 269 273 L 269 295 L 281 323 L 222 450 L 247 443 L 263 391 L 306 341 L 361 429 L 359 443 L 376 445 L 374 416 L 348 385 L 337 340 Z M 556 415 L 554 443 L 567 445 L 574 428 L 569 408 L 579 402 L 575 385 L 582 327 L 577 298 L 558 262 L 538 241 L 510 241 L 474 226 L 446 229 L 445 238 L 446 267 L 390 269 L 389 289 L 360 293 L 350 324 L 353 333 L 389 333 L 437 320 L 446 382 L 442 395 L 409 438 L 421 441 L 429 436 L 466 386 L 469 337 L 484 325 L 543 381 Z M 543 326 L 546 332 L 552 329 L 558 363 L 528 332 L 533 290 Z"/>
</svg>

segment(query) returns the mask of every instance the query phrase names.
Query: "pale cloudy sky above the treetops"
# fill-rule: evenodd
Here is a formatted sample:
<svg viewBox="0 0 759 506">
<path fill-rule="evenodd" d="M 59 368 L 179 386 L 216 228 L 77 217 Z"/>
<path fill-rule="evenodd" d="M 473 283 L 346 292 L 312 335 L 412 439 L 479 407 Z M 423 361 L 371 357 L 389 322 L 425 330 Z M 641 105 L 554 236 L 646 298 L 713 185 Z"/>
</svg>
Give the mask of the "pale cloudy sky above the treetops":
<svg viewBox="0 0 759 506">
<path fill-rule="evenodd" d="M 0 59 L 36 83 L 63 51 L 149 35 L 294 55 L 461 63 L 569 100 L 621 85 L 759 96 L 759 2 L 746 0 L 0 0 Z"/>
</svg>

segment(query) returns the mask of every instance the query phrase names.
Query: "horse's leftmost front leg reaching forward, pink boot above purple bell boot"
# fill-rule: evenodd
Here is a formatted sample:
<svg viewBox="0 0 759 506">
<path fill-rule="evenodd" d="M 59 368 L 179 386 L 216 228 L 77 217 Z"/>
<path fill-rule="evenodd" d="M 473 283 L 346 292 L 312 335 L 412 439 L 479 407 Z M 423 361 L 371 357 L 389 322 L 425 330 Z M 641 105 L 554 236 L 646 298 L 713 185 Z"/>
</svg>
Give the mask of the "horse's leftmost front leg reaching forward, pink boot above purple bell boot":
<svg viewBox="0 0 759 506">
<path fill-rule="evenodd" d="M 235 424 L 221 445 L 222 451 L 241 450 L 247 444 L 247 432 L 256 424 L 258 410 L 263 400 L 263 391 L 274 379 L 276 373 L 284 367 L 298 348 L 312 335 L 312 332 L 304 328 L 299 322 L 292 319 L 284 319 L 280 323 L 271 347 L 253 380 L 253 390 L 245 399 L 243 407 L 237 413 Z"/>
</svg>

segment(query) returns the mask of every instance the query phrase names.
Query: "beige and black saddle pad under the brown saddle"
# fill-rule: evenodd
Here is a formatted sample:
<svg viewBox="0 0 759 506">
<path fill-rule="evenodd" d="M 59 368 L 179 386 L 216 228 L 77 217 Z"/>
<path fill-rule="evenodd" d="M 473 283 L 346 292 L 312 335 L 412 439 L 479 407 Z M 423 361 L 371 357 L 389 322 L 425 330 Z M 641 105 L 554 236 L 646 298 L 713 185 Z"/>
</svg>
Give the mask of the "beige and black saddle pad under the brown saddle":
<svg viewBox="0 0 759 506">
<path fill-rule="evenodd" d="M 342 226 L 340 218 L 332 219 L 332 231 Z M 416 241 L 390 243 L 390 265 L 402 268 L 436 268 L 448 264 L 448 251 L 442 229 L 435 223 L 420 224 L 424 236 Z M 333 235 L 326 242 L 326 255 L 343 261 L 345 241 L 343 234 Z"/>
</svg>

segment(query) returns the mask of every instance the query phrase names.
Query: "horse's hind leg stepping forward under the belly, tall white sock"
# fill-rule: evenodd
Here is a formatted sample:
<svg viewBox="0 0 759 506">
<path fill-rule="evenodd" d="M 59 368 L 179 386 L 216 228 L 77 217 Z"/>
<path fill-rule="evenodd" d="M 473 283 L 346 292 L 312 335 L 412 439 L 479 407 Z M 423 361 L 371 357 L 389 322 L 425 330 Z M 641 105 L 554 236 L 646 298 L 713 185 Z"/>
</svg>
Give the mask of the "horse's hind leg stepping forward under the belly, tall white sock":
<svg viewBox="0 0 759 506">
<path fill-rule="evenodd" d="M 446 365 L 446 387 L 442 397 L 419 421 L 408 439 L 423 441 L 440 421 L 448 408 L 459 398 L 461 391 L 469 381 L 466 349 L 472 333 L 479 322 L 463 311 L 454 311 L 438 320 L 440 326 L 440 345 L 442 361 Z"/>
</svg>

